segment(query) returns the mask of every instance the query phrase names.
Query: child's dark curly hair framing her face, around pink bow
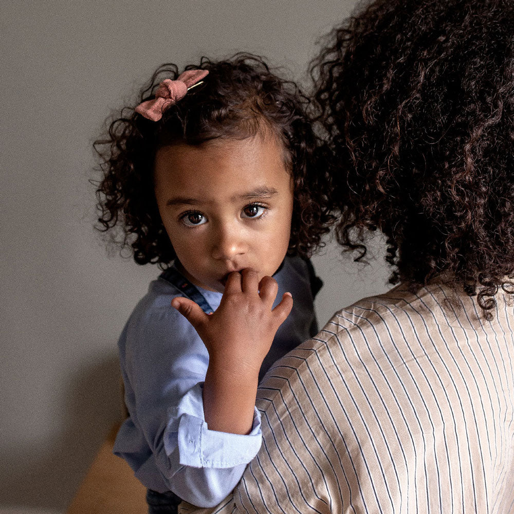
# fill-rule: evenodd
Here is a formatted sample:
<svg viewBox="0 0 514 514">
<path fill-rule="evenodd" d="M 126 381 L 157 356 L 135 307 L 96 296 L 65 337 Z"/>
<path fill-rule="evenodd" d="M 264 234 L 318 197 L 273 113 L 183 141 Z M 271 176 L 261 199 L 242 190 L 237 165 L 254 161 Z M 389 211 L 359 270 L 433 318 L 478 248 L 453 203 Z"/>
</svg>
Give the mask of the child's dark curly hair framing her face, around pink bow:
<svg viewBox="0 0 514 514">
<path fill-rule="evenodd" d="M 306 116 L 307 98 L 297 85 L 274 75 L 262 58 L 237 53 L 224 61 L 202 58 L 204 83 L 192 88 L 162 119 L 150 121 L 124 108 L 108 134 L 95 141 L 103 179 L 98 184 L 97 228 L 117 226 L 119 243 L 132 247 L 138 264 L 169 265 L 175 252 L 164 229 L 154 196 L 154 159 L 162 146 L 174 142 L 198 145 L 216 138 L 244 139 L 269 130 L 284 147 L 284 161 L 294 181 L 289 253 L 310 255 L 333 221 L 329 213 L 326 172 L 313 165 L 316 137 Z M 159 83 L 176 79 L 175 64 L 163 64 L 140 101 L 154 97 Z M 139 102 L 138 102 L 139 103 Z"/>
</svg>

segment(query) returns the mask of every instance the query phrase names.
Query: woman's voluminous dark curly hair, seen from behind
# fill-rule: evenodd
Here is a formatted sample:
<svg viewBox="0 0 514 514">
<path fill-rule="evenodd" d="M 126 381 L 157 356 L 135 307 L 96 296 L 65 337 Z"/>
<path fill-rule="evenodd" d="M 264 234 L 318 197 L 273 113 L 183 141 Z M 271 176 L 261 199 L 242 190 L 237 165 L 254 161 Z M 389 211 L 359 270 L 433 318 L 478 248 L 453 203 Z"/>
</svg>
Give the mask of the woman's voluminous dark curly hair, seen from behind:
<svg viewBox="0 0 514 514">
<path fill-rule="evenodd" d="M 341 219 L 387 238 L 392 284 L 434 277 L 486 318 L 514 277 L 514 3 L 377 0 L 336 27 L 311 72 Z"/>
</svg>

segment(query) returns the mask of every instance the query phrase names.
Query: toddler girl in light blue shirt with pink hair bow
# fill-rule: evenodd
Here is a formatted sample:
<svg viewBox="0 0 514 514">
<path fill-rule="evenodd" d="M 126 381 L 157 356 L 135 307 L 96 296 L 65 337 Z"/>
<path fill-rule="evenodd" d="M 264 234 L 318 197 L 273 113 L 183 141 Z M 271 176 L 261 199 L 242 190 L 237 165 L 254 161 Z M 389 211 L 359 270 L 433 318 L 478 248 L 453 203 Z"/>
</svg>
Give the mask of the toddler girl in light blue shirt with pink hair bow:
<svg viewBox="0 0 514 514">
<path fill-rule="evenodd" d="M 226 496 L 261 446 L 259 379 L 317 333 L 307 256 L 332 218 L 304 106 L 249 54 L 163 65 L 95 142 L 102 229 L 164 270 L 119 340 L 130 416 L 114 451 L 150 512 Z"/>
</svg>

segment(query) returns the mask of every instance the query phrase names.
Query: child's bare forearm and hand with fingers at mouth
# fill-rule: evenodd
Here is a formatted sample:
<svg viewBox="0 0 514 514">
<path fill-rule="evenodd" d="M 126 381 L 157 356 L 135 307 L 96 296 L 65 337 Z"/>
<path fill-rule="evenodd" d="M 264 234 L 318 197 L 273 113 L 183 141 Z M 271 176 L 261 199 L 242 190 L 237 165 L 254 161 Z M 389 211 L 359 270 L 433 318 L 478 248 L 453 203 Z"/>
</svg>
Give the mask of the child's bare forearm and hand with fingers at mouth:
<svg viewBox="0 0 514 514">
<path fill-rule="evenodd" d="M 210 316 L 186 298 L 172 301 L 209 353 L 203 398 L 210 430 L 247 434 L 252 428 L 259 370 L 292 308 L 288 293 L 272 308 L 277 291 L 274 279 L 259 283 L 255 271 L 244 269 L 230 274 L 222 302 Z"/>
</svg>

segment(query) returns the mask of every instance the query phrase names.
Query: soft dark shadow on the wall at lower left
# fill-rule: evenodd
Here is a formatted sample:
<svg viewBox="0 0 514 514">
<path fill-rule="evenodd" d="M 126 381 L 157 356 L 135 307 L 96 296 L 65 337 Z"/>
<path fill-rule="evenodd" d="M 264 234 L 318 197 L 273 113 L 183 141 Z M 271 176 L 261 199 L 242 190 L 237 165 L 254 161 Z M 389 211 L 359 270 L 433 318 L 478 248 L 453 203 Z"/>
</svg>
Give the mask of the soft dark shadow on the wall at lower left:
<svg viewBox="0 0 514 514">
<path fill-rule="evenodd" d="M 121 419 L 117 355 L 103 354 L 64 384 L 64 428 L 56 440 L 13 448 L 4 455 L 6 479 L 0 504 L 64 511 L 112 426 Z M 21 511 L 21 510 L 20 510 Z"/>
</svg>

